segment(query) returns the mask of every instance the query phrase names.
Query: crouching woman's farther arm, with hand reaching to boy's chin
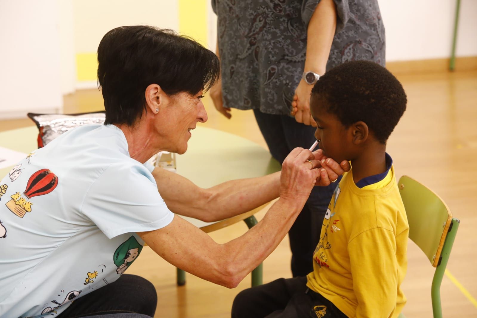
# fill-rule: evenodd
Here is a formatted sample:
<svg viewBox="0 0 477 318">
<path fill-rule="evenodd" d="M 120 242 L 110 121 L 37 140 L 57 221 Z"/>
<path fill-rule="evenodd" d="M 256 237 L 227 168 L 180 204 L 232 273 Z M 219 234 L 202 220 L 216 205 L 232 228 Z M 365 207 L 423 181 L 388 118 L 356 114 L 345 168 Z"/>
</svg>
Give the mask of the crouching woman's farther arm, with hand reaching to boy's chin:
<svg viewBox="0 0 477 318">
<path fill-rule="evenodd" d="M 326 159 L 320 149 L 313 154 L 314 167 L 321 167 L 316 185 L 329 185 L 330 180 L 335 180 L 344 171 L 350 170 L 347 161 L 337 164 L 331 158 Z M 323 159 L 327 161 L 321 164 Z M 208 189 L 200 188 L 187 178 L 165 169 L 155 168 L 152 175 L 159 193 L 172 212 L 205 222 L 248 212 L 278 197 L 280 189 L 280 172 L 257 178 L 231 180 Z"/>
</svg>

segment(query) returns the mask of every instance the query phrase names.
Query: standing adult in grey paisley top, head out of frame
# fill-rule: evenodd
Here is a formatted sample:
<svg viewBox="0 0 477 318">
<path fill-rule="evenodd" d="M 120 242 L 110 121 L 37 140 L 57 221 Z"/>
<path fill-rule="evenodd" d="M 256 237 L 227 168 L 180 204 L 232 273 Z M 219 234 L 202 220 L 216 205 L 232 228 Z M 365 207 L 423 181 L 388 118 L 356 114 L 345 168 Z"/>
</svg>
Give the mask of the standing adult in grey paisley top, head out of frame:
<svg viewBox="0 0 477 318">
<path fill-rule="evenodd" d="M 384 65 L 377 0 L 212 0 L 212 8 L 222 68 L 210 96 L 227 118 L 230 108 L 253 109 L 280 162 L 291 149 L 315 141 L 309 99 L 320 75 L 353 60 Z M 290 229 L 294 277 L 313 270 L 310 260 L 335 186 L 313 189 Z"/>
</svg>

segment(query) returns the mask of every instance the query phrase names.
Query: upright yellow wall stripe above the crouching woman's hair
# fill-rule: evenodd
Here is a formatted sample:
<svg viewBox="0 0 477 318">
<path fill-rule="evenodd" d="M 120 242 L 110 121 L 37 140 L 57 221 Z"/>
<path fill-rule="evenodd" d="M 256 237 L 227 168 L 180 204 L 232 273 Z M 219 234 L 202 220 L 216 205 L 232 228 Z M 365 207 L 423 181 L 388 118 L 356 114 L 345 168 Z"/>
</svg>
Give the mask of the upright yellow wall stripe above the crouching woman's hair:
<svg viewBox="0 0 477 318">
<path fill-rule="evenodd" d="M 210 0 L 179 0 L 179 32 L 207 48 L 207 4 Z"/>
</svg>

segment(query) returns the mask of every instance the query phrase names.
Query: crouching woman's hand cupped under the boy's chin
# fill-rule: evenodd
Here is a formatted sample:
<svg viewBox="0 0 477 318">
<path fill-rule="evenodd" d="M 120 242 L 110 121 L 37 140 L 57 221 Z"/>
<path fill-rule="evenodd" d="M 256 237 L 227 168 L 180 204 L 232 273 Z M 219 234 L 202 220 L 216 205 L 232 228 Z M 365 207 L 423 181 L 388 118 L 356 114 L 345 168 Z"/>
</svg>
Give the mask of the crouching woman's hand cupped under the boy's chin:
<svg viewBox="0 0 477 318">
<path fill-rule="evenodd" d="M 327 186 L 336 181 L 340 175 L 350 171 L 351 165 L 347 160 L 343 160 L 340 164 L 332 158 L 328 158 L 323 154 L 321 149 L 313 152 L 314 159 L 311 160 L 313 166 L 320 171 L 320 177 L 316 180 L 315 185 Z"/>
</svg>

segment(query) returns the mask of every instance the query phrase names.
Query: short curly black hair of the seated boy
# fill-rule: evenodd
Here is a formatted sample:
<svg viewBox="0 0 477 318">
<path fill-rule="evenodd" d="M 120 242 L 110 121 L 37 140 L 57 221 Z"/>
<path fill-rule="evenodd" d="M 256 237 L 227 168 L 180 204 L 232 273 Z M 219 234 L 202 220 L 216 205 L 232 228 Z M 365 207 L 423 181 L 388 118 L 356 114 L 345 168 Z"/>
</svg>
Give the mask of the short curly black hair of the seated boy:
<svg viewBox="0 0 477 318">
<path fill-rule="evenodd" d="M 328 113 L 349 126 L 363 121 L 385 144 L 406 110 L 401 83 L 384 67 L 367 61 L 343 63 L 321 76 L 311 91 Z M 310 105 L 313 107 L 313 105 Z"/>
</svg>

